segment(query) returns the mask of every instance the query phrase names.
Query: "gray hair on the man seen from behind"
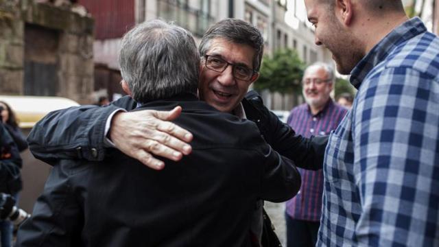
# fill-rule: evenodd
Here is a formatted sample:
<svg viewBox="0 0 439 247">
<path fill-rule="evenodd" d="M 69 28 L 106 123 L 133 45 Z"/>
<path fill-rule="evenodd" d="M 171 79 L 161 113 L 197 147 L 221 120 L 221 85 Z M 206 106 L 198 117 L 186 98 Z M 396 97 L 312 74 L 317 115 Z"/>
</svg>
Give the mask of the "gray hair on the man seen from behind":
<svg viewBox="0 0 439 247">
<path fill-rule="evenodd" d="M 137 25 L 122 38 L 119 64 L 137 102 L 197 94 L 200 54 L 182 27 L 160 20 Z"/>
</svg>

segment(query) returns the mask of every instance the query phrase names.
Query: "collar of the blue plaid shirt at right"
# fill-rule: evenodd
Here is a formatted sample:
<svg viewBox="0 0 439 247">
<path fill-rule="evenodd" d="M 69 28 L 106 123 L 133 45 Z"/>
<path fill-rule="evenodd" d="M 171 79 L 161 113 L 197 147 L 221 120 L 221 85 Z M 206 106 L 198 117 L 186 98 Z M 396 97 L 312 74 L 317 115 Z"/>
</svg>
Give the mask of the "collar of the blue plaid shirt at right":
<svg viewBox="0 0 439 247">
<path fill-rule="evenodd" d="M 426 31 L 427 28 L 418 17 L 405 21 L 405 23 L 396 27 L 390 34 L 379 41 L 355 66 L 351 72 L 351 84 L 355 86 L 356 89 L 359 89 L 366 75 L 368 75 L 379 62 L 385 60 L 395 47 Z"/>
</svg>

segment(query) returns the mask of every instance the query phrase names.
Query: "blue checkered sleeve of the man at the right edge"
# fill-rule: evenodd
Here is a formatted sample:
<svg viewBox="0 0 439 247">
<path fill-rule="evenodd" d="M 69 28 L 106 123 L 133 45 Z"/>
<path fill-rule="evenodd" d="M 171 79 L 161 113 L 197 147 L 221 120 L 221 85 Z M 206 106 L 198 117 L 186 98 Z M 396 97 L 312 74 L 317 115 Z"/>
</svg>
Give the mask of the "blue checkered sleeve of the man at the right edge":
<svg viewBox="0 0 439 247">
<path fill-rule="evenodd" d="M 353 116 L 362 211 L 357 241 L 438 246 L 438 78 L 396 67 L 372 75 L 363 86 Z"/>
</svg>

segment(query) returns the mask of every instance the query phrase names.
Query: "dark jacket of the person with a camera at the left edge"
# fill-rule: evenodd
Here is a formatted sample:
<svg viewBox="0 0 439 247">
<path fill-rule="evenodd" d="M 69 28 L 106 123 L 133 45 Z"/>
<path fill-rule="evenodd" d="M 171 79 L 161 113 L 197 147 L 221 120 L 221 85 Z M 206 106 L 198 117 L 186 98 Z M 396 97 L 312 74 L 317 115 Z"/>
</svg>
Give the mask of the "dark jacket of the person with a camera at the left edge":
<svg viewBox="0 0 439 247">
<path fill-rule="evenodd" d="M 19 150 L 3 124 L 0 124 L 0 192 L 13 194 L 21 190 Z"/>
</svg>

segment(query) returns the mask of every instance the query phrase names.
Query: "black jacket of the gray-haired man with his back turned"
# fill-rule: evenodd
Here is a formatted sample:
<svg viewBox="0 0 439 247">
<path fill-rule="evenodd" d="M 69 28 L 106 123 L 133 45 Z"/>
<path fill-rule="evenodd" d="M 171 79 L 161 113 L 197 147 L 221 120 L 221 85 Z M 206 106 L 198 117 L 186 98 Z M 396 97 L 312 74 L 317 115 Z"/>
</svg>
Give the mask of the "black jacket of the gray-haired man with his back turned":
<svg viewBox="0 0 439 247">
<path fill-rule="evenodd" d="M 296 168 L 254 123 L 194 97 L 142 109 L 177 105 L 175 123 L 194 136 L 189 156 L 159 172 L 115 149 L 101 162 L 60 161 L 17 246 L 250 246 L 254 204 L 292 198 Z"/>
</svg>

